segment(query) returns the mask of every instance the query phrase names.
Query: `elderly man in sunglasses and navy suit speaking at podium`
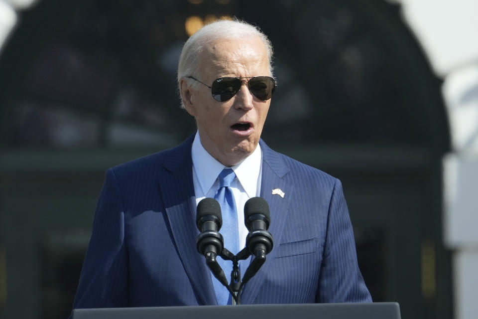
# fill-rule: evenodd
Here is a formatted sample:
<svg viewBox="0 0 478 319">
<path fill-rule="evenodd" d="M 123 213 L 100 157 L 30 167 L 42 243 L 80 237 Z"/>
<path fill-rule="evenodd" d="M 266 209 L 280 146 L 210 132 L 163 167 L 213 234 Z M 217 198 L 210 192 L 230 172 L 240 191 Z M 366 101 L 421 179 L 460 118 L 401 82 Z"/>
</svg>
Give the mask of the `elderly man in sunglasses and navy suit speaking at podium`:
<svg viewBox="0 0 478 319">
<path fill-rule="evenodd" d="M 209 24 L 185 43 L 178 85 L 198 131 L 108 169 L 74 308 L 230 303 L 196 249 L 204 197 L 229 205 L 223 235 L 234 253 L 247 235 L 244 202 L 270 206 L 274 247 L 242 304 L 371 302 L 340 181 L 260 140 L 276 86 L 271 56 L 267 37 L 241 21 Z"/>
</svg>

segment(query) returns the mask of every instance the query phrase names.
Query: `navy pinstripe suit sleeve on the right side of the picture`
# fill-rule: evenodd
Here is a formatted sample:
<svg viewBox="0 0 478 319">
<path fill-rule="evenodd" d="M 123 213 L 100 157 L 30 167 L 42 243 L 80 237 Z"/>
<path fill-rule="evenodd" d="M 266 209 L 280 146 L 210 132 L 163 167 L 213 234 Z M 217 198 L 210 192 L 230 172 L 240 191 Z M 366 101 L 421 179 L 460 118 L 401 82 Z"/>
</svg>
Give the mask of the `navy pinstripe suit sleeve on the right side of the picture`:
<svg viewBox="0 0 478 319">
<path fill-rule="evenodd" d="M 357 264 L 354 231 L 338 179 L 329 204 L 316 302 L 372 302 Z"/>
</svg>

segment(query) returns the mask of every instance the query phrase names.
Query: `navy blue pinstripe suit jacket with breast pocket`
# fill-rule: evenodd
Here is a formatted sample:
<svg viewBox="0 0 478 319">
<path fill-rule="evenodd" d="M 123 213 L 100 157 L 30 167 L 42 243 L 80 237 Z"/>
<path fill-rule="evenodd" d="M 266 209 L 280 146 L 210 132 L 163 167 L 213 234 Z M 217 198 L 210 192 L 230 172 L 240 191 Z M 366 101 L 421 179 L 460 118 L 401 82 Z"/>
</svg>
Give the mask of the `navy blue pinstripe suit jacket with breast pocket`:
<svg viewBox="0 0 478 319">
<path fill-rule="evenodd" d="M 108 169 L 74 308 L 217 304 L 196 250 L 193 138 Z M 260 146 L 274 248 L 242 304 L 371 302 L 340 181 Z"/>
</svg>

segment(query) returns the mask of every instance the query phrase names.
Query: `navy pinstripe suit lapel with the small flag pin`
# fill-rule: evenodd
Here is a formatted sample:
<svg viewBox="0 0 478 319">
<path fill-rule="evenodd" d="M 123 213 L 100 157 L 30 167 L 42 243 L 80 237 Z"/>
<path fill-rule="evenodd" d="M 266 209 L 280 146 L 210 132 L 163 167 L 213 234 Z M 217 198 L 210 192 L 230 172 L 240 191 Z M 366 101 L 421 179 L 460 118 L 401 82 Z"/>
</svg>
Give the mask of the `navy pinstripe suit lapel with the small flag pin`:
<svg viewBox="0 0 478 319">
<path fill-rule="evenodd" d="M 293 197 L 294 187 L 284 180 L 289 168 L 285 165 L 282 158 L 274 151 L 269 149 L 261 140 L 262 149 L 262 179 L 260 186 L 260 197 L 264 198 L 270 208 L 270 227 L 269 232 L 274 239 L 274 247 L 267 255 L 266 262 L 259 269 L 257 274 L 244 286 L 242 293 L 243 304 L 253 304 L 257 294 L 264 283 L 272 262 L 278 252 L 278 246 L 281 242 L 282 229 L 288 214 L 288 207 Z M 273 189 L 280 189 L 284 197 L 279 194 L 272 194 Z"/>
</svg>

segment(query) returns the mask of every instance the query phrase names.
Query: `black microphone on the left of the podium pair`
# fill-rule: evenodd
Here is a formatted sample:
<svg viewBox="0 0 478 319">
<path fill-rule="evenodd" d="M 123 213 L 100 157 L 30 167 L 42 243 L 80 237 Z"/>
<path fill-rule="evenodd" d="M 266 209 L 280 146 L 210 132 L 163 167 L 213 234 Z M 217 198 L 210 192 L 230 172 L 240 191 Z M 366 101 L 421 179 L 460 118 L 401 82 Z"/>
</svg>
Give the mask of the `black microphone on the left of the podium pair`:
<svg viewBox="0 0 478 319">
<path fill-rule="evenodd" d="M 196 225 L 201 232 L 196 239 L 196 248 L 206 258 L 206 265 L 208 265 L 214 277 L 228 287 L 226 275 L 216 259 L 218 255 L 221 255 L 224 248 L 224 239 L 219 233 L 223 225 L 223 217 L 221 205 L 216 199 L 206 197 L 199 202 Z"/>
</svg>

